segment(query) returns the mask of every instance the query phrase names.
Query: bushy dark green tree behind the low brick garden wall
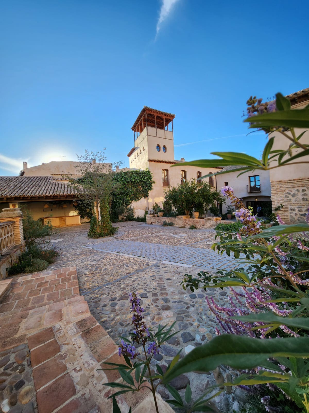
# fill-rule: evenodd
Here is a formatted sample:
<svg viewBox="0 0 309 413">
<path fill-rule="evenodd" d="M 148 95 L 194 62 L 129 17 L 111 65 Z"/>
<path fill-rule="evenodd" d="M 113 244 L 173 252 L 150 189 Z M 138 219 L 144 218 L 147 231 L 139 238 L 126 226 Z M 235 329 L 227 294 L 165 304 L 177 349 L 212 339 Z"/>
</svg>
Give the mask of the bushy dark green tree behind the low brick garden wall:
<svg viewBox="0 0 309 413">
<path fill-rule="evenodd" d="M 211 206 L 215 206 L 215 202 L 225 202 L 224 197 L 208 183 L 197 183 L 194 179 L 166 190 L 164 202 L 166 201 L 169 201 L 176 211 L 185 211 L 186 215 L 193 209 L 207 211 Z"/>
</svg>

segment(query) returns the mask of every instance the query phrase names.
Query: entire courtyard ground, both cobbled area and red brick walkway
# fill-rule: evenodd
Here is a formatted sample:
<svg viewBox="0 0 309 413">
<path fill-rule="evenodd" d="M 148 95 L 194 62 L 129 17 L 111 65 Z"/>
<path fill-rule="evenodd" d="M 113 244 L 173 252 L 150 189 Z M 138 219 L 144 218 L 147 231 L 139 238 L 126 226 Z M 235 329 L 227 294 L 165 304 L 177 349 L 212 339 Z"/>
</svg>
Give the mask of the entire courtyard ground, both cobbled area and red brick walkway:
<svg viewBox="0 0 309 413">
<path fill-rule="evenodd" d="M 177 334 L 152 359 L 153 370 L 156 364 L 164 370 L 178 351 L 182 358 L 215 334 L 217 320 L 205 298 L 225 306 L 228 291 L 208 288 L 191 292 L 180 285 L 186 272 L 195 275 L 201 270 L 215 272 L 239 265 L 239 260 L 211 250 L 215 231 L 138 222 L 118 226 L 114 237 L 100 239 L 87 237 L 89 224 L 55 231 L 51 242 L 59 256 L 47 271 L 1 282 L 0 351 L 4 351 L 0 352 L 0 396 L 6 398 L 2 411 L 111 411 L 107 399 L 111 391 L 104 384 L 117 377 L 109 377 L 106 370 L 98 373 L 98 368 L 104 368 L 106 360 L 119 360 L 114 342 L 119 335 L 127 336 L 132 327 L 130 292 L 141 297 L 148 327 L 176 323 L 173 332 Z M 237 374 L 224 373 L 229 375 L 227 381 Z M 215 384 L 215 377 L 211 372 L 188 373 L 171 385 L 184 396 L 188 383 L 196 399 Z M 157 390 L 164 399 L 171 397 L 165 387 Z M 239 399 L 239 392 L 222 392 L 210 405 L 216 412 L 238 411 L 234 396 Z M 126 413 L 131 405 L 134 413 L 143 412 L 143 404 L 152 403 L 146 393 L 138 393 L 135 399 L 128 394 L 118 398 L 121 411 Z M 160 411 L 171 411 L 160 400 Z M 8 404 L 13 406 L 9 410 Z M 73 405 L 79 407 L 72 410 Z"/>
</svg>

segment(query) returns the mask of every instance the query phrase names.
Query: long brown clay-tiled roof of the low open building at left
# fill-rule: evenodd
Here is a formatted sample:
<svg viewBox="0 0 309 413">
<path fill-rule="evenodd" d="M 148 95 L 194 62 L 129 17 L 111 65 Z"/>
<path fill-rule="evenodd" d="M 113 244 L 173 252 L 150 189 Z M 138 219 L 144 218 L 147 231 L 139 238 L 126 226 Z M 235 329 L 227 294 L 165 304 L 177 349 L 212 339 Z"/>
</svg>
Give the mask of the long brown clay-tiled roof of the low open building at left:
<svg viewBox="0 0 309 413">
<path fill-rule="evenodd" d="M 76 189 L 52 176 L 0 176 L 0 198 L 67 195 L 77 195 Z"/>
</svg>

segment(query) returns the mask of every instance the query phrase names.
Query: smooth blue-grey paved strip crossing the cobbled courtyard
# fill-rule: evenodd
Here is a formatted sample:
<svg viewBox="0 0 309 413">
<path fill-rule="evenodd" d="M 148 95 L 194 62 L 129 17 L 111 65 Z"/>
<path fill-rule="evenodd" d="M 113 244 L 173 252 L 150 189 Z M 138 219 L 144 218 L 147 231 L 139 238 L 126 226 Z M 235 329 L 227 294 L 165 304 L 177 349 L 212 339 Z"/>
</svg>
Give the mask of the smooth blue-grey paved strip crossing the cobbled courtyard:
<svg viewBox="0 0 309 413">
<path fill-rule="evenodd" d="M 205 269 L 236 268 L 240 261 L 227 255 L 219 255 L 213 250 L 181 246 L 175 247 L 163 244 L 147 244 L 141 241 L 113 240 L 108 243 L 98 242 L 85 247 L 103 252 L 118 252 L 131 256 L 153 259 L 156 261 L 173 261 L 192 266 L 202 266 Z"/>
</svg>

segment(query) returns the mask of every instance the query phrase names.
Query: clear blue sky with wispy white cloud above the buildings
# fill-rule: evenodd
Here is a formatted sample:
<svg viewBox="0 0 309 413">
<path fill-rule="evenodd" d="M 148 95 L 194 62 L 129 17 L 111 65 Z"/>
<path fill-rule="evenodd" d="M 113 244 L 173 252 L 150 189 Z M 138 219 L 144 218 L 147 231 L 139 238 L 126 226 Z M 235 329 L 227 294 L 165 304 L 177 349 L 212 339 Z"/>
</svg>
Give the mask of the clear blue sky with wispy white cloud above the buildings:
<svg viewBox="0 0 309 413">
<path fill-rule="evenodd" d="M 309 86 L 307 1 L 12 0 L 0 12 L 0 175 L 106 147 L 124 161 L 143 105 L 176 114 L 175 157 L 259 157 L 251 94 Z M 196 142 L 196 143 L 192 143 Z"/>
</svg>

